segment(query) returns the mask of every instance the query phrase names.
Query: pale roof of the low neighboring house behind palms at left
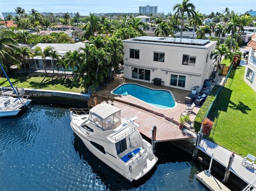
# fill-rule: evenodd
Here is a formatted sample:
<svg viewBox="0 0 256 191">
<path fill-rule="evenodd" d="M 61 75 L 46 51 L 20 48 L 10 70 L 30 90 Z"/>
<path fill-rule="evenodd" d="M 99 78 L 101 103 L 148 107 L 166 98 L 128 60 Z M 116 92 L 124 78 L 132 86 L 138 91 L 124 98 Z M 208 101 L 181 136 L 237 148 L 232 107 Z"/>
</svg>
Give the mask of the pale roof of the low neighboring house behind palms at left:
<svg viewBox="0 0 256 191">
<path fill-rule="evenodd" d="M 58 52 L 58 54 L 62 55 L 67 51 L 74 51 L 78 50 L 79 48 L 84 48 L 85 44 L 81 43 L 75 43 L 75 44 L 58 44 L 58 43 L 38 43 L 33 47 L 35 49 L 36 47 L 41 47 L 41 49 L 44 49 L 47 46 L 51 46 Z"/>
</svg>

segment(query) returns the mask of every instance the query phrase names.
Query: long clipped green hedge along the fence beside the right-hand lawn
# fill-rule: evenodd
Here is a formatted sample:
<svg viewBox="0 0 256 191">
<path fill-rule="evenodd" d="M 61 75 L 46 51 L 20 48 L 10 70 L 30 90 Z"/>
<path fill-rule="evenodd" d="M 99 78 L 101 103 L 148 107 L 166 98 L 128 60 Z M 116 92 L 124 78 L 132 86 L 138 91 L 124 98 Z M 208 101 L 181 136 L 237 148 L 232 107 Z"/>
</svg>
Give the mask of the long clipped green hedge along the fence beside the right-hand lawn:
<svg viewBox="0 0 256 191">
<path fill-rule="evenodd" d="M 198 113 L 196 114 L 196 118 L 194 120 L 194 130 L 196 132 L 200 131 L 200 128 L 202 126 L 202 122 L 203 122 L 203 120 L 204 120 L 204 118 L 205 118 L 213 100 L 214 100 L 214 97 L 218 93 L 219 89 L 220 89 L 220 85 L 215 85 L 213 87 L 212 91 L 207 96 L 204 104 L 202 105 L 202 107 L 200 108 Z"/>
</svg>

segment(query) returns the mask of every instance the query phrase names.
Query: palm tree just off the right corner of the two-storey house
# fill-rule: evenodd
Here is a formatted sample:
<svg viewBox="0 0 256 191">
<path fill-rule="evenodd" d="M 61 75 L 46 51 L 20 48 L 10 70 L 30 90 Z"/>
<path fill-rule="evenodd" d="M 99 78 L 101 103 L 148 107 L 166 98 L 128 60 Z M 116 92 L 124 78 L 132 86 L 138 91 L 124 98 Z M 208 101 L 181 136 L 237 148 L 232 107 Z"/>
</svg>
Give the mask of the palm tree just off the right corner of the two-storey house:
<svg viewBox="0 0 256 191">
<path fill-rule="evenodd" d="M 220 68 L 221 59 L 224 56 L 225 59 L 233 59 L 232 52 L 228 49 L 228 47 L 224 44 L 221 44 L 220 46 L 216 47 L 214 52 L 211 53 L 210 59 L 219 59 L 218 61 L 218 67 Z"/>
</svg>

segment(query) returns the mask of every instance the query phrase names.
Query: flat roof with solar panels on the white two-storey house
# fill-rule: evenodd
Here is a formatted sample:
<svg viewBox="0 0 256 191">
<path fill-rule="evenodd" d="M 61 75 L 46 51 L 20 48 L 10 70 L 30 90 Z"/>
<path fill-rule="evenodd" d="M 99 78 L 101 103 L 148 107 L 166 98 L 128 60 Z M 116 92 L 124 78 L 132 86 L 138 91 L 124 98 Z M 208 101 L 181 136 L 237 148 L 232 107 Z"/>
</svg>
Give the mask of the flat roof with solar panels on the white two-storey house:
<svg viewBox="0 0 256 191">
<path fill-rule="evenodd" d="M 141 36 L 130 38 L 130 41 L 146 41 L 155 43 L 170 43 L 170 44 L 185 44 L 185 45 L 200 45 L 204 46 L 210 43 L 210 40 L 202 39 L 186 39 L 186 38 L 170 38 L 170 37 L 152 37 L 152 36 Z M 126 40 L 124 40 L 126 41 Z"/>
</svg>

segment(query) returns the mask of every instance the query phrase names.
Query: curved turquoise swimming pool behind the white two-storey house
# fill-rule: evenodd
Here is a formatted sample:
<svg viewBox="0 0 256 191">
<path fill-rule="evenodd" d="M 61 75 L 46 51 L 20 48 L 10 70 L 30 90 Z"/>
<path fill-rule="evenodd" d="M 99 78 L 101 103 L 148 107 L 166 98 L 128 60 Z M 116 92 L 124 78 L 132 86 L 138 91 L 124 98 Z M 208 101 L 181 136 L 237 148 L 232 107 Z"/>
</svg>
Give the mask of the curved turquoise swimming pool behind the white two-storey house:
<svg viewBox="0 0 256 191">
<path fill-rule="evenodd" d="M 137 84 L 127 83 L 120 85 L 112 93 L 131 95 L 161 109 L 170 109 L 176 106 L 176 102 L 170 91 L 154 90 Z"/>
</svg>

